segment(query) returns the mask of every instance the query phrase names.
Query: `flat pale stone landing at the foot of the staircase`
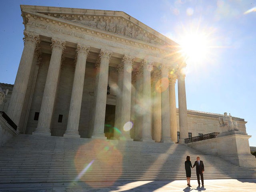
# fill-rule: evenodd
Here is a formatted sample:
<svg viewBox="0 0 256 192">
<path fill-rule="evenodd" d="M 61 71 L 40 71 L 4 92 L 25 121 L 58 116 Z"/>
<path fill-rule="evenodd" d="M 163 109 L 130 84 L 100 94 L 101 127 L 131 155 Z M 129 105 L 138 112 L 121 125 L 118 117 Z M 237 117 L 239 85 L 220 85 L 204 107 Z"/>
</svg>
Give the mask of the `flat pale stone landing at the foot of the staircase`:
<svg viewBox="0 0 256 192">
<path fill-rule="evenodd" d="M 255 192 L 256 179 L 216 179 L 204 180 L 204 187 L 198 187 L 197 180 L 191 180 L 192 187 L 186 187 L 186 180 L 152 180 L 136 182 L 116 182 L 104 186 L 104 182 L 95 183 L 95 188 L 84 182 L 63 183 L 22 183 L 0 184 L 0 192 Z"/>
</svg>

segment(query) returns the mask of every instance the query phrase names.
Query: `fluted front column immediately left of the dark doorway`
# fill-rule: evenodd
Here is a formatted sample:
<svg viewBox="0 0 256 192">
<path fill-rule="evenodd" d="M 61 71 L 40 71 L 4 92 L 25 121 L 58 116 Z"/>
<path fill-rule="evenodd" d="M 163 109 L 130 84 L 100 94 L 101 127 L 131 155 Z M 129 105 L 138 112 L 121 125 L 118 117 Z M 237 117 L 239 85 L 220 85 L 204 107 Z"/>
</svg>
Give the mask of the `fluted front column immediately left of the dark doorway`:
<svg viewBox="0 0 256 192">
<path fill-rule="evenodd" d="M 106 114 L 108 66 L 112 52 L 100 50 L 100 72 L 96 90 L 96 107 L 94 114 L 94 127 L 92 138 L 106 139 L 104 134 L 104 123 Z"/>
</svg>

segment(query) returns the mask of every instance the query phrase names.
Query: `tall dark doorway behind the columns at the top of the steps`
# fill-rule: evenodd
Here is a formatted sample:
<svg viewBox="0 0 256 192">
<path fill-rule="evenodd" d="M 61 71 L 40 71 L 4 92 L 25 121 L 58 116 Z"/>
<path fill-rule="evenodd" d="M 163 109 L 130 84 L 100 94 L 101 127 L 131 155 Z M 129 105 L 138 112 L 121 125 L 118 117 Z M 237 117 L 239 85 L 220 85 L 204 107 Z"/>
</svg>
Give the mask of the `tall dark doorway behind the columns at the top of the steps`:
<svg viewBox="0 0 256 192">
<path fill-rule="evenodd" d="M 114 137 L 115 110 L 115 105 L 106 105 L 104 134 L 107 139 Z"/>
</svg>

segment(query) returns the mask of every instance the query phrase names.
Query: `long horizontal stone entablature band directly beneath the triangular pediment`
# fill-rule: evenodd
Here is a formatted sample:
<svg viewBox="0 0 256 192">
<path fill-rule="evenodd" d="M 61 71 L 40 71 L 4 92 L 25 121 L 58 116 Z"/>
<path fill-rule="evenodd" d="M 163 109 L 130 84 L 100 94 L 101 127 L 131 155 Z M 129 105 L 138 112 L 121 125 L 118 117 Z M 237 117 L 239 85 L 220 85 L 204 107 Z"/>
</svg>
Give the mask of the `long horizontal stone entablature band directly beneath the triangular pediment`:
<svg viewBox="0 0 256 192">
<path fill-rule="evenodd" d="M 127 38 L 126 36 L 110 33 L 107 31 L 102 31 L 102 30 L 97 30 L 96 28 L 90 28 L 90 26 L 84 26 L 80 23 L 72 22 L 69 20 L 63 20 L 60 18 L 55 18 L 52 16 L 48 16 L 45 14 L 37 13 L 37 12 L 29 12 L 26 11 L 26 13 L 23 13 L 24 18 L 24 24 L 25 28 L 26 26 L 34 26 L 35 23 L 39 24 L 45 24 L 48 26 L 36 26 L 37 28 L 44 28 L 46 30 L 51 30 L 54 32 L 60 32 L 61 28 L 64 28 L 66 30 L 71 30 L 73 34 L 68 34 L 71 36 L 75 36 L 77 38 L 83 38 L 83 35 L 85 34 L 90 34 L 93 36 L 100 36 L 101 38 L 105 38 L 111 41 L 116 41 L 119 43 L 125 43 L 130 46 L 135 46 L 138 48 L 142 48 L 144 50 L 148 50 L 149 55 L 163 58 L 163 59 L 168 59 L 170 62 L 172 60 L 176 60 L 177 57 L 174 53 L 176 53 L 175 49 L 170 49 L 168 46 L 159 46 L 156 44 L 150 44 L 147 42 L 143 42 L 140 40 L 132 39 L 132 38 Z M 52 26 L 51 29 L 49 29 L 49 26 Z M 65 32 L 62 32 L 63 34 L 66 34 Z M 168 48 L 168 49 L 166 49 Z M 150 53 L 150 50 L 154 51 L 153 53 Z M 170 54 L 172 52 L 172 54 Z"/>
</svg>

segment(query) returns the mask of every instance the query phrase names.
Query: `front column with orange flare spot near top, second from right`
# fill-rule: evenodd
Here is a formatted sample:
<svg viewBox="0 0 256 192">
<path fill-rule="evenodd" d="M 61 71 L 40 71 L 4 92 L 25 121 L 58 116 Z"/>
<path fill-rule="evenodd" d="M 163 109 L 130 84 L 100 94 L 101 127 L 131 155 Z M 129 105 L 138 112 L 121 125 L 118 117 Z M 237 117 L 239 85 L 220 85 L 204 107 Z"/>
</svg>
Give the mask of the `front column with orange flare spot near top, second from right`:
<svg viewBox="0 0 256 192">
<path fill-rule="evenodd" d="M 170 98 L 169 98 L 169 67 L 162 64 L 161 66 L 161 123 L 162 123 L 162 138 L 161 142 L 173 142 L 170 136 Z"/>
</svg>

